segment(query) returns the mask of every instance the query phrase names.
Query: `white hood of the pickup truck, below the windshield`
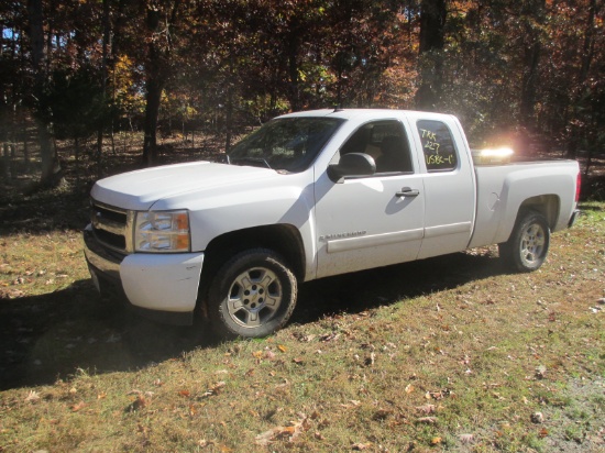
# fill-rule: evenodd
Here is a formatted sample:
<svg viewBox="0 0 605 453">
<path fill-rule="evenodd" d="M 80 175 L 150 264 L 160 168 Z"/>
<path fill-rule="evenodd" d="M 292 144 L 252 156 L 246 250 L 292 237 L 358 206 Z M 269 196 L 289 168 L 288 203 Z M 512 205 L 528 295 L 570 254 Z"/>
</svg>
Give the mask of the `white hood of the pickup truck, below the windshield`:
<svg viewBox="0 0 605 453">
<path fill-rule="evenodd" d="M 268 168 L 195 162 L 111 176 L 97 181 L 90 196 L 122 209 L 148 210 L 164 198 L 276 176 L 278 174 Z"/>
</svg>

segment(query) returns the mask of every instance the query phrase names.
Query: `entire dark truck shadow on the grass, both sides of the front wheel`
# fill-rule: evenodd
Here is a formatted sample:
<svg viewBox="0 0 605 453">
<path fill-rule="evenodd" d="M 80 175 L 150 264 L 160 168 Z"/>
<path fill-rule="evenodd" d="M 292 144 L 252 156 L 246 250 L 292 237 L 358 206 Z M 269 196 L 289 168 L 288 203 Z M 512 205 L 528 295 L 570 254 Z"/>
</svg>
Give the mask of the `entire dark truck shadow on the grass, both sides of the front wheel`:
<svg viewBox="0 0 605 453">
<path fill-rule="evenodd" d="M 360 312 L 498 275 L 492 254 L 435 259 L 324 278 L 301 286 L 292 323 Z M 0 300 L 0 390 L 53 384 L 85 371 L 133 371 L 217 340 L 200 327 L 157 324 L 101 300 L 90 280 Z"/>
</svg>

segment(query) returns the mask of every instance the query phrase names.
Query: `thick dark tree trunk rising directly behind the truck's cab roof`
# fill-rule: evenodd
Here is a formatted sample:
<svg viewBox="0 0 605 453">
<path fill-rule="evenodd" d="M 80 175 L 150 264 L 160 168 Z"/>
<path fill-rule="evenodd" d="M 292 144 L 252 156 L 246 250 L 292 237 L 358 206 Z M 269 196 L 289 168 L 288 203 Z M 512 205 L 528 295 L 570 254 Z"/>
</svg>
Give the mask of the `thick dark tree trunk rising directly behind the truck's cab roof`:
<svg viewBox="0 0 605 453">
<path fill-rule="evenodd" d="M 446 38 L 446 0 L 422 0 L 420 4 L 419 67 L 420 84 L 416 107 L 433 111 L 443 89 L 443 46 Z"/>
</svg>

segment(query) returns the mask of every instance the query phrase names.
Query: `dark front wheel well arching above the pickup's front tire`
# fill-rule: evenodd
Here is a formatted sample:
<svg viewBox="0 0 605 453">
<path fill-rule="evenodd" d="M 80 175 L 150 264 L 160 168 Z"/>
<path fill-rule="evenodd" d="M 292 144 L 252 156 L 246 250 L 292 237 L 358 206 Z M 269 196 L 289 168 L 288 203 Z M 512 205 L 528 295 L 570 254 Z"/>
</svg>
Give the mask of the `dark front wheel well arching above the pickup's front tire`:
<svg viewBox="0 0 605 453">
<path fill-rule="evenodd" d="M 294 225 L 279 224 L 231 231 L 215 237 L 205 251 L 202 281 L 208 281 L 231 256 L 258 247 L 282 255 L 296 278 L 304 279 L 306 263 L 300 233 Z"/>
</svg>

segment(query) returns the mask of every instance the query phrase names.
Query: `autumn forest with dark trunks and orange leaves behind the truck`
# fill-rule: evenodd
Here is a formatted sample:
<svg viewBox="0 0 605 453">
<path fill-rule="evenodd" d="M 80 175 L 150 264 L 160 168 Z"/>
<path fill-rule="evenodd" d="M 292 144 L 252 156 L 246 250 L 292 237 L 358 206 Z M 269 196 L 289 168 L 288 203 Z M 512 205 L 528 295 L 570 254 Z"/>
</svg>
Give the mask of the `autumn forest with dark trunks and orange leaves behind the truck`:
<svg viewBox="0 0 605 453">
<path fill-rule="evenodd" d="M 229 147 L 312 108 L 449 112 L 473 145 L 605 150 L 603 0 L 29 0 L 0 5 L 2 177 L 56 143 L 111 165 L 114 134 L 204 131 Z"/>
</svg>

